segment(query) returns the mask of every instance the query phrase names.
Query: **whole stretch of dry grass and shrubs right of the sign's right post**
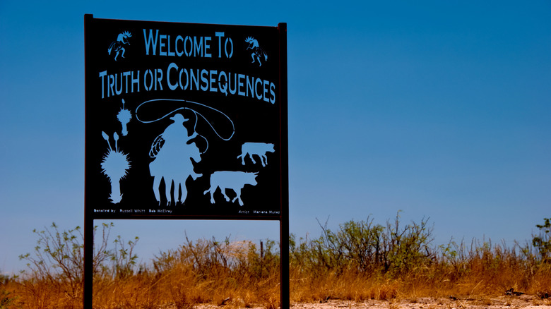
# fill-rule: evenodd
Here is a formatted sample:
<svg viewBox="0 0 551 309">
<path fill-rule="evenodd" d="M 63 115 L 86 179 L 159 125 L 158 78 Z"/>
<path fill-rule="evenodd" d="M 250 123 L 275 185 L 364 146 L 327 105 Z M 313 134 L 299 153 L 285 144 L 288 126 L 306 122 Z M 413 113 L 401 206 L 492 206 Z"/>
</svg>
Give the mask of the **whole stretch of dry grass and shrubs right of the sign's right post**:
<svg viewBox="0 0 551 309">
<path fill-rule="evenodd" d="M 535 250 L 532 243 L 507 246 L 473 238 L 468 244 L 452 238 L 432 246 L 427 219 L 403 225 L 398 215 L 386 225 L 368 218 L 345 222 L 336 231 L 320 226 L 319 238 L 290 235 L 292 295 L 301 300 L 473 297 L 502 295 L 511 288 L 545 294 L 551 289 L 551 265 L 538 262 L 541 246 Z M 382 293 L 386 288 L 393 293 Z"/>
</svg>

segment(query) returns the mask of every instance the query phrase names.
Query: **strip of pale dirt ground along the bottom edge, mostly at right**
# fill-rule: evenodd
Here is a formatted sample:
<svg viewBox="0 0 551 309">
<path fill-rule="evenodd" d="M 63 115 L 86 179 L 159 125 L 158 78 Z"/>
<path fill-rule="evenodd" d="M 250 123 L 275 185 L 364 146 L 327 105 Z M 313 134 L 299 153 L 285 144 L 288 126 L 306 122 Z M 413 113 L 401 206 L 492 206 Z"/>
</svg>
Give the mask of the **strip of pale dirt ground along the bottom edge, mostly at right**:
<svg viewBox="0 0 551 309">
<path fill-rule="evenodd" d="M 231 308 L 235 308 L 230 305 Z M 199 305 L 196 309 L 221 309 L 213 305 Z M 259 306 L 249 309 L 266 309 L 268 306 Z M 541 299 L 537 296 L 499 296 L 496 298 L 470 298 L 461 299 L 451 296 L 450 298 L 417 298 L 391 301 L 341 301 L 328 300 L 324 303 L 292 303 L 292 309 L 451 309 L 451 308 L 473 308 L 473 309 L 500 309 L 500 308 L 526 308 L 526 309 L 551 309 L 551 298 Z"/>
</svg>

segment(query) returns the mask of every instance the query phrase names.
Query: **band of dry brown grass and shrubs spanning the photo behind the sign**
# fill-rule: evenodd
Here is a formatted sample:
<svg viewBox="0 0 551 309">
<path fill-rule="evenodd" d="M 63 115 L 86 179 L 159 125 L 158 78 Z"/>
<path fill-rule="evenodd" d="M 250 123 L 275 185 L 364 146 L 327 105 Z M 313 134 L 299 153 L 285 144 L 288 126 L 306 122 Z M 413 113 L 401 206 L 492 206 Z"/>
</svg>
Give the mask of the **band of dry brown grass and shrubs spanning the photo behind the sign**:
<svg viewBox="0 0 551 309">
<path fill-rule="evenodd" d="M 79 230 L 52 227 L 37 232 L 35 255 L 21 256 L 30 262 L 30 271 L 1 278 L 0 308 L 82 307 L 82 272 L 75 267 L 82 256 Z M 137 239 L 117 238 L 115 248 L 107 250 L 111 227 L 103 226 L 104 241 L 95 255 L 95 308 L 279 305 L 274 241 L 265 241 L 261 252 L 249 241 L 186 240 L 150 265 L 136 265 L 132 249 Z M 383 300 L 392 308 L 398 300 L 430 298 L 489 305 L 497 296 L 526 293 L 538 304 L 551 305 L 551 262 L 537 244 L 508 248 L 473 240 L 468 246 L 453 241 L 432 246 L 427 220 L 401 226 L 398 217 L 385 226 L 368 219 L 342 224 L 336 232 L 321 229 L 319 238 L 290 238 L 291 303 Z M 548 235 L 539 241 L 549 243 Z"/>
</svg>

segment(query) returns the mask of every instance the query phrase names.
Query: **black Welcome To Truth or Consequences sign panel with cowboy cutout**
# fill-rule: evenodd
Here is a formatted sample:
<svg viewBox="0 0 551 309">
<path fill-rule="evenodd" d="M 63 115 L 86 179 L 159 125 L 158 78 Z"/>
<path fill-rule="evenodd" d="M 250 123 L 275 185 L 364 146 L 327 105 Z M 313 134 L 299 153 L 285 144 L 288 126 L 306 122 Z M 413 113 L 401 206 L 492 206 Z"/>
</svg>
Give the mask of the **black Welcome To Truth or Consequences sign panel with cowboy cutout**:
<svg viewBox="0 0 551 309">
<path fill-rule="evenodd" d="M 280 37 L 275 27 L 86 19 L 86 213 L 280 219 Z"/>
</svg>

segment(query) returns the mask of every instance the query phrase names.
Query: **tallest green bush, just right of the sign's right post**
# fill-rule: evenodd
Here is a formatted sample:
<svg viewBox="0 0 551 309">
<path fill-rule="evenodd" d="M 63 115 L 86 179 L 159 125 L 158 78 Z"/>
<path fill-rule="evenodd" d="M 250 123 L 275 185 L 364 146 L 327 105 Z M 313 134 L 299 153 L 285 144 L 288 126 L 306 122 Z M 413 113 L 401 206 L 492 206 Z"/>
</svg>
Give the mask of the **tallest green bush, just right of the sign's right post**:
<svg viewBox="0 0 551 309">
<path fill-rule="evenodd" d="M 325 276 L 328 272 L 379 273 L 389 277 L 409 272 L 432 261 L 432 227 L 428 220 L 401 226 L 399 216 L 386 226 L 354 220 L 340 224 L 334 232 L 321 225 L 319 238 L 307 240 L 290 236 L 290 262 L 309 273 Z"/>
</svg>

